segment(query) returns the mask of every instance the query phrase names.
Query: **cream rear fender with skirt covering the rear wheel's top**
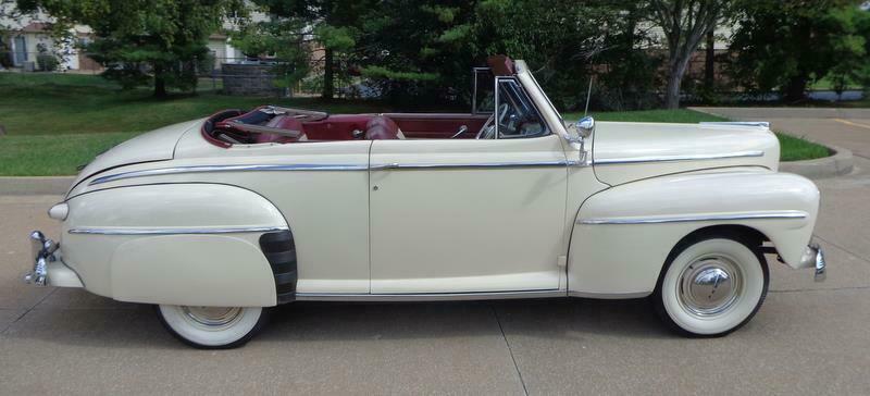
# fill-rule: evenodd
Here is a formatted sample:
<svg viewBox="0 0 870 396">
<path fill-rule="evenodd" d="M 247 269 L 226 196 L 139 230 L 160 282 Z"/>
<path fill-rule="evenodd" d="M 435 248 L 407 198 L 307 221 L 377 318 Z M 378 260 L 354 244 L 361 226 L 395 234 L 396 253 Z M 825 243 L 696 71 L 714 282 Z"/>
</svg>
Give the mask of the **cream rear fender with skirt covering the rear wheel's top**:
<svg viewBox="0 0 870 396">
<path fill-rule="evenodd" d="M 148 304 L 276 304 L 260 237 L 289 228 L 258 194 L 219 184 L 138 185 L 67 205 L 62 257 L 89 292 Z"/>
</svg>

